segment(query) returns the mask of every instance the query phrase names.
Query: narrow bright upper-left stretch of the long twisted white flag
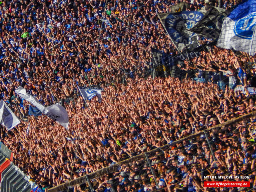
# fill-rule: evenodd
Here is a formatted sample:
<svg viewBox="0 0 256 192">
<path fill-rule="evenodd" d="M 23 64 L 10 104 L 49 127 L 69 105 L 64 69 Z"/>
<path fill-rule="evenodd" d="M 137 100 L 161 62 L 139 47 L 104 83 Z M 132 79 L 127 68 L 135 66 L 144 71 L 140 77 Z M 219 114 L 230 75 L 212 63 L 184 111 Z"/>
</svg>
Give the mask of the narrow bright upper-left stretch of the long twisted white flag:
<svg viewBox="0 0 256 192">
<path fill-rule="evenodd" d="M 31 104 L 33 104 L 34 106 L 36 106 L 36 108 L 38 108 L 39 111 L 41 111 L 43 114 L 47 114 L 47 109 L 45 108 L 45 106 L 43 106 L 38 100 L 36 100 L 32 95 L 28 94 L 26 92 L 26 89 L 24 89 L 23 87 L 18 87 L 15 92 L 22 97 L 24 100 L 27 100 L 28 102 L 30 102 Z"/>
</svg>

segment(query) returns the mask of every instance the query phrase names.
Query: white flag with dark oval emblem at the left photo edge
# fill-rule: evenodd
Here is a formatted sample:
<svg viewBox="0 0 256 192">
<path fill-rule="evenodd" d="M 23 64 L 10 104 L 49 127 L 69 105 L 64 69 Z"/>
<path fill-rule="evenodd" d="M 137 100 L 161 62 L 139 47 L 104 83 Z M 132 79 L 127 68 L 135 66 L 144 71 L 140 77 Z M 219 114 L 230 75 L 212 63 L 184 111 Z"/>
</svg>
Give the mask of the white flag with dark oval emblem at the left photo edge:
<svg viewBox="0 0 256 192">
<path fill-rule="evenodd" d="M 5 126 L 7 130 L 11 130 L 20 123 L 17 116 L 3 100 L 0 101 L 0 123 Z"/>
</svg>

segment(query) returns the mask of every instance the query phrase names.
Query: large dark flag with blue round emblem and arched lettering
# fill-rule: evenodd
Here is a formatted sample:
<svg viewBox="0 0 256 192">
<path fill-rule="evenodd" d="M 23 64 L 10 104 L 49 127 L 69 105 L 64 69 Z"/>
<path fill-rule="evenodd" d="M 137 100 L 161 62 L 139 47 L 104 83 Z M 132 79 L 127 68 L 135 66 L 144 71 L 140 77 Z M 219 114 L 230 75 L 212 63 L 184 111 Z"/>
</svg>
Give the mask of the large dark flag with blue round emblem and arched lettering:
<svg viewBox="0 0 256 192">
<path fill-rule="evenodd" d="M 189 31 L 204 14 L 199 11 L 182 11 L 178 13 L 161 13 L 161 19 L 167 33 L 179 50 L 193 50 L 199 46 L 198 35 Z"/>
</svg>

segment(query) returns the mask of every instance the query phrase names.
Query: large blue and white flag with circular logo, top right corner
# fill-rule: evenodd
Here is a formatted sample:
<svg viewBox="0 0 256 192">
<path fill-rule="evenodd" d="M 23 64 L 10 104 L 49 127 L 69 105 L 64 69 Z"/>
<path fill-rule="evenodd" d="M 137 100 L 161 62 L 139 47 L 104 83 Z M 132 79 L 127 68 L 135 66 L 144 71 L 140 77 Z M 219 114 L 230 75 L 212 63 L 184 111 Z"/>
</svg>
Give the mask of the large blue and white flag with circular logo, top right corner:
<svg viewBox="0 0 256 192">
<path fill-rule="evenodd" d="M 217 46 L 254 55 L 256 51 L 256 0 L 238 5 L 223 22 Z"/>
</svg>

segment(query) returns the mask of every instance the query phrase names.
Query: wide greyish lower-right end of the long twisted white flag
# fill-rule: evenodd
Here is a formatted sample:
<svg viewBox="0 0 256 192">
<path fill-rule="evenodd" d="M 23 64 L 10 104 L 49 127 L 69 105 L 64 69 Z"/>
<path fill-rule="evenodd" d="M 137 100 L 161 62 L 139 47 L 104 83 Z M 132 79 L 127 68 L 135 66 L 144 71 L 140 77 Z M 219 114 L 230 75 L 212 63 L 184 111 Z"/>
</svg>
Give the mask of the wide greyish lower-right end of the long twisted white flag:
<svg viewBox="0 0 256 192">
<path fill-rule="evenodd" d="M 47 116 L 57 121 L 64 128 L 68 128 L 69 126 L 69 115 L 66 109 L 59 103 L 53 104 L 46 108 L 48 110 Z"/>
</svg>

